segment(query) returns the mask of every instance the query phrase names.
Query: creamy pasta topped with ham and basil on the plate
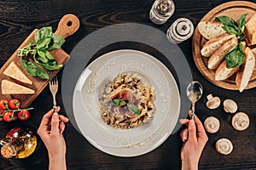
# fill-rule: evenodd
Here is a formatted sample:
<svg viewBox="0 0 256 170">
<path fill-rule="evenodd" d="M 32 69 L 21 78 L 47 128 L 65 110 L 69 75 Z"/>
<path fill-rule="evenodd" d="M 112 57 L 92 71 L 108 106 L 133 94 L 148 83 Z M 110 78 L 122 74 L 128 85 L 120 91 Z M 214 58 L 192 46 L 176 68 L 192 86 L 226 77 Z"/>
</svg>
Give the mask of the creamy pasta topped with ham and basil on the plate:
<svg viewBox="0 0 256 170">
<path fill-rule="evenodd" d="M 154 88 L 137 74 L 119 74 L 101 94 L 102 119 L 112 127 L 137 127 L 154 115 L 154 99 Z"/>
</svg>

